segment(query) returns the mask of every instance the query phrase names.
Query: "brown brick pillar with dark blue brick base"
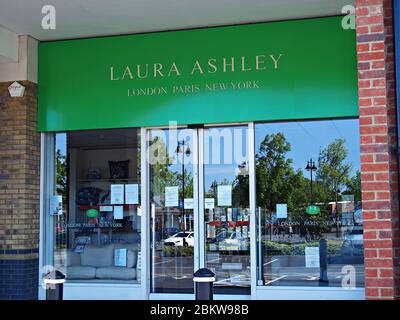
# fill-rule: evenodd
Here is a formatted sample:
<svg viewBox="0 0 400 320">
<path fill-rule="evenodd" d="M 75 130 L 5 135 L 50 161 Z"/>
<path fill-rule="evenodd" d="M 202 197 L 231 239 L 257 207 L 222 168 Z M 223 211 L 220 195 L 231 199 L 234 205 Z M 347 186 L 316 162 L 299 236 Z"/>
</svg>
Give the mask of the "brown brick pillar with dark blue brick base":
<svg viewBox="0 0 400 320">
<path fill-rule="evenodd" d="M 0 83 L 0 299 L 37 299 L 40 135 L 37 85 Z"/>
</svg>

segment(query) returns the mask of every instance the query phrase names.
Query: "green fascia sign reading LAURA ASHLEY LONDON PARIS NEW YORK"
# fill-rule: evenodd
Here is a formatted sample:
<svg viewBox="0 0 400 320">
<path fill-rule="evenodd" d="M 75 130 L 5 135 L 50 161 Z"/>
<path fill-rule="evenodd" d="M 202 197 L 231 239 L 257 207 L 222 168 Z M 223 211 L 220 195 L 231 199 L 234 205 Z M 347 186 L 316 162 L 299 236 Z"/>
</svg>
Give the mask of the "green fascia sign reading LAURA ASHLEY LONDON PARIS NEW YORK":
<svg viewBox="0 0 400 320">
<path fill-rule="evenodd" d="M 39 130 L 357 116 L 341 19 L 42 42 Z"/>
</svg>

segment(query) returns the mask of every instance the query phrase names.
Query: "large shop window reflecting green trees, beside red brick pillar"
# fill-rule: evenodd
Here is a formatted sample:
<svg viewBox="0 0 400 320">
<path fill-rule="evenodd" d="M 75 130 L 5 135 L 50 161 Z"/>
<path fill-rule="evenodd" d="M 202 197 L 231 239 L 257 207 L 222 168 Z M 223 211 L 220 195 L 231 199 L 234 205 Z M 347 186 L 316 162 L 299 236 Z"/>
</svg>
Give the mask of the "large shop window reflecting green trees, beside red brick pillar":
<svg viewBox="0 0 400 320">
<path fill-rule="evenodd" d="M 258 285 L 363 287 L 358 119 L 255 128 Z"/>
</svg>

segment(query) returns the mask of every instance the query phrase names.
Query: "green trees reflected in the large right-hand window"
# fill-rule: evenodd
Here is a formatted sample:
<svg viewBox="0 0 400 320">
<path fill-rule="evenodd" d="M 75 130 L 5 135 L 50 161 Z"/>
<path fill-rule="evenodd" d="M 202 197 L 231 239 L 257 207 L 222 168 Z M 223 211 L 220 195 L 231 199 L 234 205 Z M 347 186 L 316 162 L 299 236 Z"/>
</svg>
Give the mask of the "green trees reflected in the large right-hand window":
<svg viewBox="0 0 400 320">
<path fill-rule="evenodd" d="M 310 180 L 301 169 L 293 168 L 293 160 L 287 157 L 289 151 L 291 145 L 283 133 L 267 134 L 261 142 L 256 154 L 257 206 L 264 209 L 266 221 L 276 212 L 276 204 L 286 203 L 289 220 L 300 223 L 301 236 L 310 234 L 317 239 L 335 225 L 329 202 L 335 202 L 337 208 L 341 194 L 354 194 L 356 201 L 361 200 L 360 173 L 349 177 L 352 166 L 346 163 L 345 140 L 337 139 L 321 149 L 313 181 L 313 198 L 321 214 L 308 216 L 305 211 L 310 201 Z"/>
</svg>

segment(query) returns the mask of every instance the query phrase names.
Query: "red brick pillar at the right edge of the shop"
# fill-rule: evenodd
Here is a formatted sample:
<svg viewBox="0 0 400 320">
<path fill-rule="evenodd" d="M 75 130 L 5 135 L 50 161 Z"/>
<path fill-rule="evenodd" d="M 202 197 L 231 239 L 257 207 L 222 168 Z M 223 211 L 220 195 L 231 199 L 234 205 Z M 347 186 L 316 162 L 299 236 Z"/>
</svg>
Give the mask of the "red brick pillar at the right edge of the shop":
<svg viewBox="0 0 400 320">
<path fill-rule="evenodd" d="M 367 299 L 399 294 L 399 172 L 392 3 L 356 0 Z"/>
</svg>

